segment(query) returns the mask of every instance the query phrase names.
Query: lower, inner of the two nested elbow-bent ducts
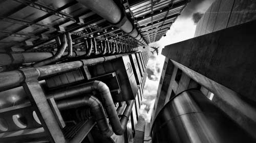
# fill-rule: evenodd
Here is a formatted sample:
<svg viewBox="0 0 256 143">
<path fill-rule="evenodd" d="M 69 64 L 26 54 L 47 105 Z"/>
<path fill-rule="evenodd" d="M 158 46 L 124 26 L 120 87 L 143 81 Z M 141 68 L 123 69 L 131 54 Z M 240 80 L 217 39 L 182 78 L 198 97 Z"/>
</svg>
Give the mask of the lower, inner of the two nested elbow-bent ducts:
<svg viewBox="0 0 256 143">
<path fill-rule="evenodd" d="M 57 107 L 59 110 L 66 110 L 81 106 L 90 107 L 90 111 L 92 112 L 97 122 L 98 128 L 104 136 L 110 137 L 111 135 L 113 135 L 113 131 L 110 129 L 102 104 L 96 97 L 92 95 L 87 95 L 84 97 L 78 97 L 57 102 Z"/>
</svg>

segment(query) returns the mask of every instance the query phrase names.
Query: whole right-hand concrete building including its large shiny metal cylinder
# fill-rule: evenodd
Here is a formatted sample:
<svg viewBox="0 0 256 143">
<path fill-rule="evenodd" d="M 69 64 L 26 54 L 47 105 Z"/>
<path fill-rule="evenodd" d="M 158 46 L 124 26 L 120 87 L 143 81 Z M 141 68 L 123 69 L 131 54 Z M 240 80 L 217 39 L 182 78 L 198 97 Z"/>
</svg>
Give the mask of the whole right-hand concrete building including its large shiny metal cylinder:
<svg viewBox="0 0 256 143">
<path fill-rule="evenodd" d="M 164 47 L 152 142 L 255 142 L 255 5 L 217 0 Z"/>
</svg>

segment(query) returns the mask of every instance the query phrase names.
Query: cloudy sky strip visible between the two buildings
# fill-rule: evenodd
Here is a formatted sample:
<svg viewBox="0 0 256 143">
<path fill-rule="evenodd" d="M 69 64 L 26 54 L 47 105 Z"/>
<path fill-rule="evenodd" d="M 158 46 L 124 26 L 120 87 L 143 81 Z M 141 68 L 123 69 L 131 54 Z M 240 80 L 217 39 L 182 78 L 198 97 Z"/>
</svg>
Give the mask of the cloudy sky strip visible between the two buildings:
<svg viewBox="0 0 256 143">
<path fill-rule="evenodd" d="M 151 52 L 148 52 L 150 58 L 148 59 L 146 67 L 147 78 L 139 111 L 140 116 L 142 116 L 146 122 L 150 122 L 151 119 L 158 84 L 162 73 L 165 59 L 165 56 L 161 54 L 162 48 L 169 44 L 193 38 L 197 22 L 210 7 L 212 2 L 214 2 L 214 0 L 191 0 L 182 11 L 181 15 L 176 19 L 172 26 L 170 26 L 170 30 L 167 31 L 166 36 L 162 37 L 158 42 L 151 43 L 146 47 L 159 47 L 159 55 L 156 53 L 153 55 Z M 153 49 L 150 48 L 150 51 L 153 51 Z"/>
</svg>

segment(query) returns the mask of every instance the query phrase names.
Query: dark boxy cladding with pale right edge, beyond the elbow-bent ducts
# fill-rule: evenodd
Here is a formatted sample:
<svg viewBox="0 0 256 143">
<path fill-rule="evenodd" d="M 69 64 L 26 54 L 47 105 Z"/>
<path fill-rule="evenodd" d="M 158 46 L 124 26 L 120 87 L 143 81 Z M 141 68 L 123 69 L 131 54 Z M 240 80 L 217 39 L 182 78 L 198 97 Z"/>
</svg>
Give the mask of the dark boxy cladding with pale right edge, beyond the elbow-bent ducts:
<svg viewBox="0 0 256 143">
<path fill-rule="evenodd" d="M 135 99 L 138 87 L 128 55 L 88 68 L 92 77 L 116 72 L 121 92 L 112 94 L 114 102 Z"/>
</svg>

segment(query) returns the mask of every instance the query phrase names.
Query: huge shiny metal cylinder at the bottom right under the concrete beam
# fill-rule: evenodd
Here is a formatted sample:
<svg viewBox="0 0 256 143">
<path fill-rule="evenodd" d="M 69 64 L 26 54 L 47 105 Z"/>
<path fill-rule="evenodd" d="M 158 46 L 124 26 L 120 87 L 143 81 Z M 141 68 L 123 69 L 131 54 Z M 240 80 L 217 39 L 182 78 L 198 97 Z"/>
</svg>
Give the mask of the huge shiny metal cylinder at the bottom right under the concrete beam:
<svg viewBox="0 0 256 143">
<path fill-rule="evenodd" d="M 152 126 L 152 142 L 255 142 L 199 90 L 170 99 Z"/>
</svg>

